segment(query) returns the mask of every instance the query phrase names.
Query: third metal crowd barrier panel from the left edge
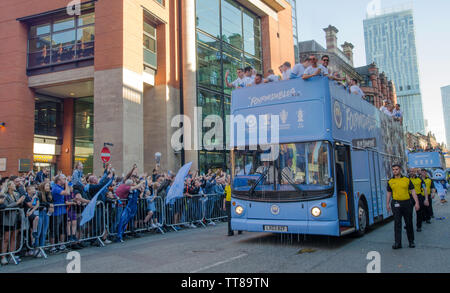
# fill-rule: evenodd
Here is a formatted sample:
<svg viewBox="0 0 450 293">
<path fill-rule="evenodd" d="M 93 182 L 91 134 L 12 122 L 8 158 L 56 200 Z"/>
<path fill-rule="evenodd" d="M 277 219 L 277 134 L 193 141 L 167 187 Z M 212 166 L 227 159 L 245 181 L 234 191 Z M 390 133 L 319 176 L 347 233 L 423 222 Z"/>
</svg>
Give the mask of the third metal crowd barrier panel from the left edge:
<svg viewBox="0 0 450 293">
<path fill-rule="evenodd" d="M 127 199 L 121 199 L 120 203 L 118 200 L 112 200 L 106 203 L 106 227 L 109 235 L 117 235 L 118 224 L 127 203 Z M 128 222 L 124 234 L 151 230 L 164 234 L 164 230 L 162 229 L 165 223 L 163 207 L 163 199 L 159 196 L 155 197 L 153 202 L 151 202 L 151 199 L 138 199 L 136 215 Z M 151 225 L 152 223 L 154 226 Z"/>
</svg>

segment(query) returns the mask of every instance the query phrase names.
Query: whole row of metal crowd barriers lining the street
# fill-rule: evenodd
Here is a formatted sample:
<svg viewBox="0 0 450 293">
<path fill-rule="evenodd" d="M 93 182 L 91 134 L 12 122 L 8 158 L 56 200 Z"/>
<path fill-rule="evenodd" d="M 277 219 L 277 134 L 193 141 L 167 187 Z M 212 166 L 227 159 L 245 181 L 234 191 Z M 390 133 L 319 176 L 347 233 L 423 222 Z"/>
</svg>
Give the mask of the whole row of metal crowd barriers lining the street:
<svg viewBox="0 0 450 293">
<path fill-rule="evenodd" d="M 175 231 L 180 226 L 206 227 L 208 221 L 226 219 L 224 197 L 223 194 L 192 195 L 168 203 L 161 197 L 156 197 L 153 202 L 139 199 L 136 215 L 124 233 L 154 230 L 164 234 L 163 226 Z M 34 232 L 30 222 L 33 217 L 26 217 L 22 208 L 0 210 L 0 257 L 10 256 L 18 264 L 14 255 L 24 245 L 29 250 L 38 249 L 44 258 L 47 258 L 46 250 L 58 246 L 63 250 L 67 245 L 92 240 L 104 246 L 102 238 L 106 233 L 117 235 L 117 225 L 126 205 L 127 200 L 121 200 L 121 203 L 117 200 L 98 201 L 93 219 L 83 227 L 79 224 L 85 205 L 54 205 L 52 213 L 47 210 L 36 213 L 38 220 Z"/>
</svg>

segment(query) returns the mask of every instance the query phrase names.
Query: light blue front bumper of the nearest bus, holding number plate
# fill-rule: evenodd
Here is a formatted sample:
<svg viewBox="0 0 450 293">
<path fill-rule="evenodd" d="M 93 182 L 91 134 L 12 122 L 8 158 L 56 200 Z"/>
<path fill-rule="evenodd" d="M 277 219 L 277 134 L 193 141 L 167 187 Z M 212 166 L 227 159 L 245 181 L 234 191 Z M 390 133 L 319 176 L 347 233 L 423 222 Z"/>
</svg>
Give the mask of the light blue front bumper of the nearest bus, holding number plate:
<svg viewBox="0 0 450 293">
<path fill-rule="evenodd" d="M 268 221 L 232 218 L 231 228 L 234 231 L 339 236 L 339 220 Z"/>
</svg>

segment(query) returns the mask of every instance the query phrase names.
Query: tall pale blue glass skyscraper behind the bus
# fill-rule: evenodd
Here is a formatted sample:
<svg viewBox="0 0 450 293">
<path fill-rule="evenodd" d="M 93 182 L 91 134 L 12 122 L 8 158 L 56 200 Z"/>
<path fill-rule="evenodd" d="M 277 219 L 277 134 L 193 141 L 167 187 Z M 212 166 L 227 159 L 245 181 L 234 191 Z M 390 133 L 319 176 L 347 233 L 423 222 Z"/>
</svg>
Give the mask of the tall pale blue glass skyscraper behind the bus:
<svg viewBox="0 0 450 293">
<path fill-rule="evenodd" d="M 375 62 L 395 83 L 409 132 L 425 133 L 412 8 L 390 9 L 364 20 L 367 64 Z"/>
</svg>

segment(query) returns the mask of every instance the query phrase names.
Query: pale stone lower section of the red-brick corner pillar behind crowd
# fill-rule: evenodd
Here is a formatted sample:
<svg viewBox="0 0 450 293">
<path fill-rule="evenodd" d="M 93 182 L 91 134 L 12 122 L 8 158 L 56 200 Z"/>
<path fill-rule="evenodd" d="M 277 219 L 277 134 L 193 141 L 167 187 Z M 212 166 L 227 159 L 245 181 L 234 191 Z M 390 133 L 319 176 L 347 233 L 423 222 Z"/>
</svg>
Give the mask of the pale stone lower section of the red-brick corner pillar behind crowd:
<svg viewBox="0 0 450 293">
<path fill-rule="evenodd" d="M 100 151 L 105 142 L 114 144 L 111 163 L 118 175 L 128 172 L 133 164 L 142 171 L 142 77 L 125 68 L 96 71 L 94 87 L 95 173 L 103 168 Z"/>
</svg>

